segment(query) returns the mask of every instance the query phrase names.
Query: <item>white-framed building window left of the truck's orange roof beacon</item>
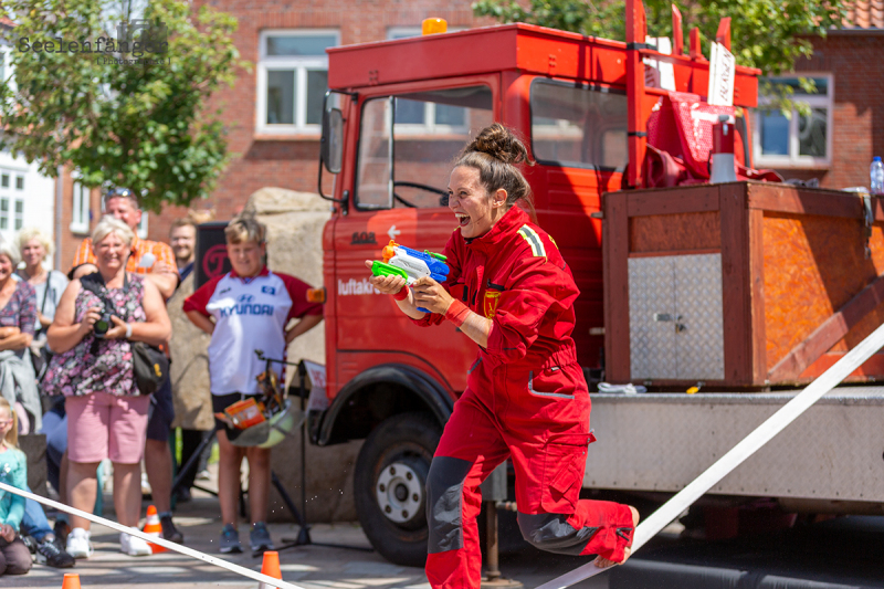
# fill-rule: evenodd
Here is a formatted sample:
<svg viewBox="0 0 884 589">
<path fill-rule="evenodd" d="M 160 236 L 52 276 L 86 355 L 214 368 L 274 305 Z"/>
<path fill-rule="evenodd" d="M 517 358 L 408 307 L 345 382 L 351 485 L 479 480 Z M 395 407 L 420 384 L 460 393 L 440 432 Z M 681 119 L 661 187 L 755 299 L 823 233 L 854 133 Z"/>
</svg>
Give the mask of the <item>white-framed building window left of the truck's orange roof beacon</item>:
<svg viewBox="0 0 884 589">
<path fill-rule="evenodd" d="M 262 31 L 257 65 L 257 130 L 318 134 L 328 90 L 328 56 L 337 31 Z"/>
</svg>

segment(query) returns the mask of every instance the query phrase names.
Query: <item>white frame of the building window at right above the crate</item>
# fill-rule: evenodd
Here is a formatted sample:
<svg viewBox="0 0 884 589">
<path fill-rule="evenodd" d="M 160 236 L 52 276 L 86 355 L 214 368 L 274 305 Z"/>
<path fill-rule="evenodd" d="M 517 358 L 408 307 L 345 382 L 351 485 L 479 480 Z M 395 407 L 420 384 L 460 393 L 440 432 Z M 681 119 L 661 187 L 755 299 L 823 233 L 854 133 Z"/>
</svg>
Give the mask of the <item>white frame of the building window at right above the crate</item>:
<svg viewBox="0 0 884 589">
<path fill-rule="evenodd" d="M 832 164 L 832 137 L 834 136 L 833 122 L 834 122 L 834 75 L 829 73 L 811 73 L 811 72 L 794 72 L 788 75 L 771 76 L 771 80 L 777 78 L 794 78 L 794 77 L 824 77 L 828 83 L 828 92 L 825 95 L 810 95 L 810 96 L 796 96 L 796 102 L 806 103 L 811 108 L 825 108 L 825 157 L 801 156 L 799 155 L 799 132 L 797 111 L 792 111 L 792 116 L 789 119 L 789 155 L 770 155 L 766 156 L 761 151 L 761 115 L 760 111 L 755 113 L 755 129 L 753 132 L 753 151 L 755 154 L 755 164 L 757 166 L 765 166 L 767 168 L 824 168 Z M 765 105 L 765 98 L 759 96 L 758 106 Z"/>
</svg>

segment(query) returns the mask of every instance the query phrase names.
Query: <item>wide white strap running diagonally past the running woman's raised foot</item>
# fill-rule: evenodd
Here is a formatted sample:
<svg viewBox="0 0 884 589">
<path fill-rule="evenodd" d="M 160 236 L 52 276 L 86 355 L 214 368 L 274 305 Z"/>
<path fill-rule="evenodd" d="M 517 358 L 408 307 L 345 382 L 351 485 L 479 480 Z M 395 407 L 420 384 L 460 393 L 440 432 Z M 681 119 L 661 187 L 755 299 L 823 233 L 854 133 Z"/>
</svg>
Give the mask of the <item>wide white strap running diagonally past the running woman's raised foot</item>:
<svg viewBox="0 0 884 589">
<path fill-rule="evenodd" d="M 639 527 L 635 528 L 635 537 L 632 541 L 632 554 L 635 554 L 648 540 L 656 536 L 660 530 L 678 517 L 682 512 L 712 488 L 713 485 L 727 476 L 727 474 L 751 456 L 759 448 L 768 443 L 775 435 L 786 429 L 787 425 L 798 419 L 801 413 L 819 401 L 823 395 L 835 388 L 839 382 L 862 366 L 862 364 L 871 358 L 882 346 L 884 346 L 884 325 L 872 332 L 869 337 L 845 354 L 844 357 L 835 362 L 829 370 L 820 375 L 817 380 L 798 393 L 794 399 L 781 407 L 779 411 L 770 416 L 767 421 L 756 428 L 755 431 L 735 445 L 727 454 L 718 459 L 718 461 L 709 466 L 703 474 L 697 476 L 686 487 L 664 503 L 656 512 L 651 514 L 651 517 L 639 524 Z M 602 570 L 608 569 L 600 569 L 592 562 L 589 562 L 551 581 L 545 582 L 537 589 L 564 589 L 583 579 L 594 577 Z"/>
</svg>

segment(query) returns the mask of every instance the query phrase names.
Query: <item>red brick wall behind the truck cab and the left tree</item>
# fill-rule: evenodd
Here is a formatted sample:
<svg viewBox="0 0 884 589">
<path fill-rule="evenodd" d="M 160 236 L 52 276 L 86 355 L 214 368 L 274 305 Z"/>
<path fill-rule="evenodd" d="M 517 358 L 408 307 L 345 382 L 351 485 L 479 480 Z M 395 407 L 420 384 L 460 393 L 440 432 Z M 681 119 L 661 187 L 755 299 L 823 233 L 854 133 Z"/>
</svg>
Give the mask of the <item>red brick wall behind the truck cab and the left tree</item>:
<svg viewBox="0 0 884 589">
<path fill-rule="evenodd" d="M 337 29 L 341 44 L 380 41 L 391 27 L 420 27 L 429 17 L 440 17 L 452 28 L 490 24 L 473 17 L 470 0 L 453 0 L 445 9 L 429 0 L 340 0 L 334 6 L 253 0 L 199 0 L 229 12 L 239 20 L 234 43 L 243 60 L 255 64 L 259 59 L 259 33 L 265 29 Z M 267 186 L 316 192 L 319 141 L 318 136 L 272 137 L 255 133 L 256 70 L 242 71 L 232 88 L 222 88 L 211 101 L 210 108 L 223 108 L 228 122 L 228 146 L 232 160 L 221 176 L 212 194 L 191 204 L 192 209 L 214 209 L 217 219 L 230 219 L 245 204 L 249 196 Z M 330 192 L 330 178 L 324 189 Z M 62 218 L 62 269 L 70 267 L 74 251 L 83 234 L 69 229 L 72 218 L 73 180 L 65 173 Z M 318 197 L 317 197 L 318 198 Z M 101 217 L 98 191 L 92 196 L 92 222 Z M 167 207 L 160 214 L 149 213 L 148 238 L 168 241 L 175 219 L 187 214 L 181 207 Z"/>
</svg>

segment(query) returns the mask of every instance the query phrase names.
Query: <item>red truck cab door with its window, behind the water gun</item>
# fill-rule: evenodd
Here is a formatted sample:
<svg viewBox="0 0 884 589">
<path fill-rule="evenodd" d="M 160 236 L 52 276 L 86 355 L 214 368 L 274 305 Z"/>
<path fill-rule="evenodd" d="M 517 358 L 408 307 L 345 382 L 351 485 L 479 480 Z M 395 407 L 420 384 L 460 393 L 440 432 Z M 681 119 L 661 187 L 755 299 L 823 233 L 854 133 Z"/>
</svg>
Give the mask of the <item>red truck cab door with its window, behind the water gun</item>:
<svg viewBox="0 0 884 589">
<path fill-rule="evenodd" d="M 448 209 L 451 162 L 495 119 L 497 85 L 496 76 L 481 76 L 359 91 L 351 207 L 335 231 L 337 382 L 400 362 L 452 393 L 464 389 L 475 348 L 453 328 L 412 325 L 370 287 L 364 261 L 379 259 L 390 240 L 442 251 L 456 228 Z"/>
</svg>

